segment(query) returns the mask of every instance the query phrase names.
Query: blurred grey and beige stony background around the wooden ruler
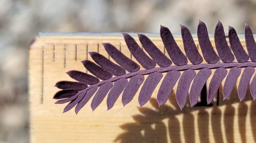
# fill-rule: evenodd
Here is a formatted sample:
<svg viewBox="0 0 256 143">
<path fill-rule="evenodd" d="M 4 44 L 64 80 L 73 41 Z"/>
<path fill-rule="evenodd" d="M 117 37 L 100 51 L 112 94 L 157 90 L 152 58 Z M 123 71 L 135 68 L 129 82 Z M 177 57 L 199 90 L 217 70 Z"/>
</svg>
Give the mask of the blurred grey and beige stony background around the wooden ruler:
<svg viewBox="0 0 256 143">
<path fill-rule="evenodd" d="M 255 0 L 0 1 L 0 142 L 29 142 L 28 49 L 37 32 L 156 32 L 160 24 L 196 33 L 198 19 L 213 33 L 220 19 L 256 32 Z"/>
</svg>

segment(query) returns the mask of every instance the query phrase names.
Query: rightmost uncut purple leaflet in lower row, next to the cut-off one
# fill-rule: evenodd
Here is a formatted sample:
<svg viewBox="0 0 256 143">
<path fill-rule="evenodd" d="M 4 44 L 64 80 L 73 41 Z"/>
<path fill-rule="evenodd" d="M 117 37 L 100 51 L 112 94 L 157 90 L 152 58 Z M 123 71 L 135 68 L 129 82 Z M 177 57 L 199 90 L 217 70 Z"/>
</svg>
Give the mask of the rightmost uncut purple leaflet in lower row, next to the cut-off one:
<svg viewBox="0 0 256 143">
<path fill-rule="evenodd" d="M 252 74 L 254 73 L 254 68 L 246 67 L 242 73 L 241 79 L 238 85 L 238 97 L 240 101 L 244 100 L 248 85 L 251 79 Z"/>
</svg>

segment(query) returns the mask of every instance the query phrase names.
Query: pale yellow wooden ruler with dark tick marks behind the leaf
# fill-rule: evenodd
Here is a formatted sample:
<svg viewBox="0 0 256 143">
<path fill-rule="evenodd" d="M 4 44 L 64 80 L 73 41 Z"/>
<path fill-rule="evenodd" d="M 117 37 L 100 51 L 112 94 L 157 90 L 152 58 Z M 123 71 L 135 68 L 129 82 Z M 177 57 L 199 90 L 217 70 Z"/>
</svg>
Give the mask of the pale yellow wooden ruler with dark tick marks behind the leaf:
<svg viewBox="0 0 256 143">
<path fill-rule="evenodd" d="M 151 38 L 163 51 L 160 38 Z M 136 39 L 138 40 L 138 39 Z M 90 103 L 78 115 L 74 109 L 62 113 L 67 104 L 54 104 L 60 80 L 72 80 L 66 72 L 87 72 L 80 63 L 89 59 L 87 51 L 98 51 L 108 57 L 101 45 L 110 42 L 131 57 L 121 37 L 45 36 L 37 37 L 30 47 L 29 92 L 31 142 L 255 142 L 256 101 L 249 94 L 239 102 L 236 91 L 219 106 L 189 107 L 180 111 L 175 91 L 167 103 L 158 107 L 156 94 L 139 107 L 138 95 L 123 107 L 119 97 L 106 110 L 106 98 L 96 110 Z M 178 45 L 183 44 L 177 39 Z M 197 44 L 197 41 L 196 41 Z M 244 42 L 242 42 L 244 45 Z M 213 44 L 214 45 L 214 44 Z M 200 48 L 199 48 L 200 49 Z M 201 52 L 201 51 L 200 51 Z M 167 56 L 167 52 L 165 53 Z M 110 58 L 111 59 L 111 58 Z M 133 57 L 132 59 L 136 61 Z M 111 59 L 112 60 L 112 59 Z M 161 82 L 161 81 L 160 81 Z M 220 89 L 221 90 L 221 89 Z M 220 91 L 221 93 L 221 91 Z"/>
</svg>

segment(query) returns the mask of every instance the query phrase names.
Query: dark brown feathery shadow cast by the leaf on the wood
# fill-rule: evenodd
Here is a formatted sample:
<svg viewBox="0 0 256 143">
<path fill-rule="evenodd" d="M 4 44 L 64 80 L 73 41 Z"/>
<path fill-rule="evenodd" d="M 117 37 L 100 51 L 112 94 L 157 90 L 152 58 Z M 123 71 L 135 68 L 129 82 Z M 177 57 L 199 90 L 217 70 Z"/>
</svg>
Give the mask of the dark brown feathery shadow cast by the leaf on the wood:
<svg viewBox="0 0 256 143">
<path fill-rule="evenodd" d="M 140 114 L 132 116 L 133 123 L 125 123 L 120 126 L 124 130 L 115 138 L 115 142 L 210 142 L 209 134 L 212 131 L 215 142 L 225 142 L 224 137 L 228 142 L 237 142 L 234 140 L 234 116 L 236 109 L 234 103 L 239 102 L 237 89 L 234 88 L 233 93 L 227 100 L 222 101 L 223 95 L 219 96 L 219 106 L 216 101 L 213 106 L 194 106 L 191 108 L 188 103 L 180 110 L 175 95 L 173 93 L 169 97 L 170 105 L 164 104 L 158 106 L 157 100 L 150 99 L 150 104 L 153 106 L 139 107 Z M 249 94 L 250 96 L 250 94 Z M 238 106 L 238 125 L 241 142 L 246 141 L 246 116 L 248 115 L 248 106 L 245 103 L 252 100 L 248 94 L 246 99 L 240 102 Z M 188 101 L 188 100 L 187 100 Z M 224 106 L 221 110 L 221 106 Z M 212 108 L 211 110 L 208 110 Z M 251 109 L 256 108 L 256 102 L 252 102 Z M 193 111 L 197 111 L 197 116 Z M 182 118 L 177 116 L 182 115 Z M 256 112 L 250 111 L 250 120 L 254 141 L 256 141 Z M 181 120 L 182 119 L 182 120 Z M 167 120 L 167 122 L 166 122 Z M 166 125 L 167 123 L 167 125 Z M 224 124 L 224 126 L 223 126 Z M 222 129 L 224 128 L 224 130 Z M 196 129 L 199 137 L 196 137 Z M 224 132 L 223 132 L 224 131 Z M 197 140 L 199 139 L 199 140 Z"/>
</svg>

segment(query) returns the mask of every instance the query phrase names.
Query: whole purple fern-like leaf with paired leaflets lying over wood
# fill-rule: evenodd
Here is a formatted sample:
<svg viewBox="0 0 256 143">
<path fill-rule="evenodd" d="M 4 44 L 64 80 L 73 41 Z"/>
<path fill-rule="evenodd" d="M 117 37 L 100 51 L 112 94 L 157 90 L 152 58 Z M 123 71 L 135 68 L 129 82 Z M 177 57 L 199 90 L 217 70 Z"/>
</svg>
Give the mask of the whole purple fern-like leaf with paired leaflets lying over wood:
<svg viewBox="0 0 256 143">
<path fill-rule="evenodd" d="M 61 90 L 53 97 L 58 100 L 55 103 L 69 102 L 63 112 L 75 107 L 75 112 L 78 113 L 91 98 L 93 98 L 91 102 L 93 110 L 99 106 L 106 96 L 108 97 L 106 105 L 108 109 L 111 109 L 121 94 L 121 102 L 125 106 L 134 99 L 136 93 L 139 93 L 138 102 L 140 106 L 143 106 L 150 100 L 154 90 L 158 90 L 157 101 L 161 106 L 168 100 L 177 84 L 176 101 L 182 109 L 186 104 L 187 95 L 189 95 L 191 106 L 198 103 L 198 98 L 207 80 L 210 80 L 207 87 L 207 103 L 212 102 L 226 76 L 222 91 L 224 100 L 230 96 L 238 82 L 240 101 L 245 98 L 249 86 L 253 100 L 256 99 L 256 75 L 252 78 L 256 67 L 256 45 L 252 31 L 247 24 L 245 24 L 245 42 L 248 54 L 245 52 L 236 31 L 231 26 L 228 30 L 230 47 L 228 46 L 224 28 L 220 21 L 216 25 L 214 34 L 218 54 L 212 47 L 204 22 L 199 21 L 197 30 L 202 55 L 199 53 L 188 28 L 184 25 L 180 26 L 186 54 L 182 52 L 183 50 L 177 45 L 172 33 L 165 26 L 160 27 L 160 36 L 170 58 L 165 56 L 146 35 L 138 34 L 139 41 L 144 49 L 142 50 L 131 35 L 123 33 L 127 48 L 138 64 L 127 58 L 114 45 L 102 43 L 106 52 L 117 64 L 97 52 L 89 52 L 94 62 L 85 60 L 82 61 L 82 64 L 92 75 L 76 70 L 68 71 L 67 74 L 78 82 L 57 82 L 55 87 Z M 234 61 L 234 58 L 238 62 Z M 249 58 L 251 61 L 249 61 Z M 203 59 L 207 63 L 202 63 Z M 172 65 L 172 61 L 175 65 Z M 188 64 L 188 61 L 192 64 Z M 160 67 L 156 67 L 156 64 Z M 141 67 L 144 69 L 141 69 Z M 243 71 L 242 75 L 241 71 Z M 211 75 L 212 78 L 208 79 Z M 241 78 L 237 81 L 240 75 Z M 145 79 L 145 77 L 147 78 Z M 156 88 L 158 84 L 160 84 L 159 89 Z"/>
</svg>

